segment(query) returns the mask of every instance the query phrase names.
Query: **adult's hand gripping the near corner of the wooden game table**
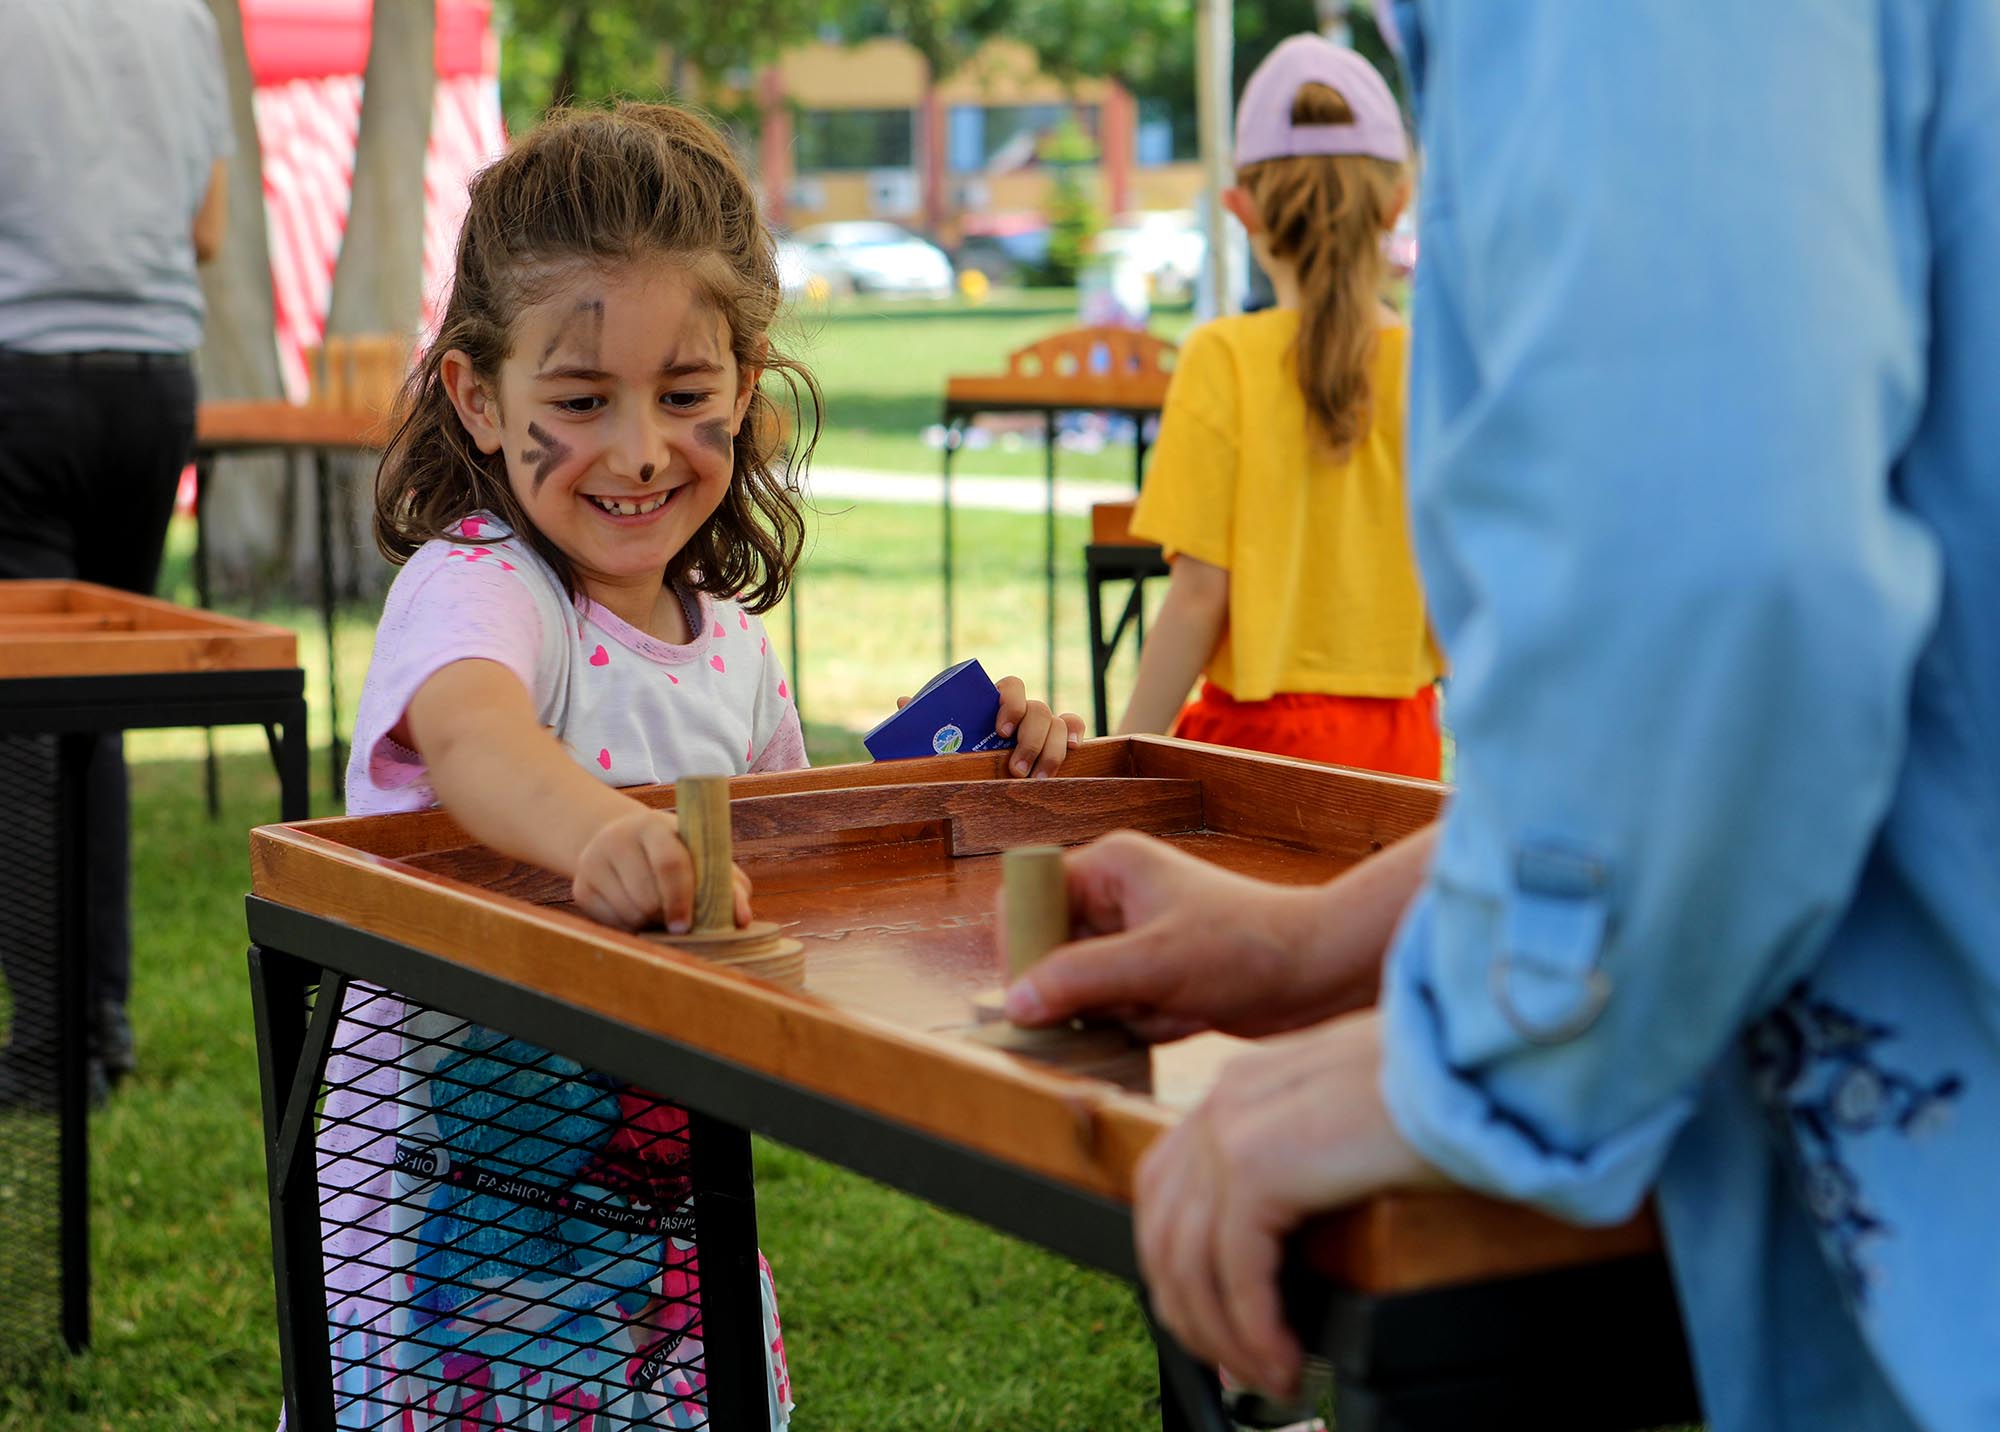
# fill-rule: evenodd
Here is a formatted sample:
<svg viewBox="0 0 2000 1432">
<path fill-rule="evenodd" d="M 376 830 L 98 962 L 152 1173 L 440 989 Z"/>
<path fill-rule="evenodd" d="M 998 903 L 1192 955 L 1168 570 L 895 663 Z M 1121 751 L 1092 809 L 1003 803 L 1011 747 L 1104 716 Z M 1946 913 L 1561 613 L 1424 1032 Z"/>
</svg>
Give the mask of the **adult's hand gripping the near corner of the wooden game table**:
<svg viewBox="0 0 2000 1432">
<path fill-rule="evenodd" d="M 1278 1296 L 1286 1234 L 1384 1188 L 1446 1182 L 1390 1122 L 1380 1064 L 1374 1012 L 1268 1040 L 1140 1160 L 1134 1230 L 1154 1314 L 1238 1382 L 1298 1392 Z"/>
</svg>

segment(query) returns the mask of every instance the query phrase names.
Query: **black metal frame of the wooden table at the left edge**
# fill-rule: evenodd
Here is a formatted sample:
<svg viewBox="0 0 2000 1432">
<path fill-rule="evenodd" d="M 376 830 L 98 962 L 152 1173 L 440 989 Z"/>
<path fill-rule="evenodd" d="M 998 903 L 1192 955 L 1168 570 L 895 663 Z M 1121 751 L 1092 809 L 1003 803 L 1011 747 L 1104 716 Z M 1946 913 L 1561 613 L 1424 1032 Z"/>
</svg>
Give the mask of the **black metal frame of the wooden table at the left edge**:
<svg viewBox="0 0 2000 1432">
<path fill-rule="evenodd" d="M 58 1240 L 62 1340 L 90 1346 L 90 1144 L 86 1080 L 84 820 L 90 736 L 164 726 L 262 726 L 284 820 L 310 810 L 306 674 L 296 666 L 224 672 L 14 676 L 0 680 L 0 734 L 56 736 Z"/>
</svg>

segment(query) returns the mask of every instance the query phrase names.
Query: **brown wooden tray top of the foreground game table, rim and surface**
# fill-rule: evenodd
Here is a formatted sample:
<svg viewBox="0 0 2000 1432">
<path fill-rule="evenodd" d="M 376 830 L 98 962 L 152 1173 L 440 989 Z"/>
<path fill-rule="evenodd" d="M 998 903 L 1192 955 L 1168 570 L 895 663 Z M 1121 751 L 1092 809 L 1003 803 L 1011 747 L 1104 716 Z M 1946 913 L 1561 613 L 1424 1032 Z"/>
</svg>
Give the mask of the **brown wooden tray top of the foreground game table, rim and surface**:
<svg viewBox="0 0 2000 1432">
<path fill-rule="evenodd" d="M 1080 1078 L 960 1036 L 1000 984 L 998 852 L 1116 828 L 1316 882 L 1436 814 L 1428 782 L 1164 738 L 1084 742 L 1056 780 L 1004 752 L 732 782 L 736 858 L 760 918 L 806 946 L 782 990 L 568 906 L 568 882 L 472 844 L 444 812 L 252 834 L 258 896 L 536 988 L 626 1026 L 1120 1202 L 1146 1146 L 1240 1044 L 1200 1036 Z M 634 792 L 672 806 L 670 788 Z M 1582 1230 L 1472 1194 L 1396 1194 L 1310 1230 L 1314 1266 L 1368 1292 L 1656 1248 L 1648 1216 Z"/>
</svg>

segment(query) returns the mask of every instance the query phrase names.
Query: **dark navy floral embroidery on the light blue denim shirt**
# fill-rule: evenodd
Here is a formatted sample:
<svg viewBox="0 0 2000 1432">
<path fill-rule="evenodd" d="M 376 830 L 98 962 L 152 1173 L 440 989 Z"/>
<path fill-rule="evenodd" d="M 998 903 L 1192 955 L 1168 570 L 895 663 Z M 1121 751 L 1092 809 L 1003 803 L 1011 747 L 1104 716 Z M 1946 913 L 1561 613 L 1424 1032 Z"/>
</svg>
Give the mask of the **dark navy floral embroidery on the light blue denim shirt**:
<svg viewBox="0 0 2000 1432">
<path fill-rule="evenodd" d="M 1796 984 L 1746 1038 L 1756 1090 L 1796 1150 L 1806 1212 L 1858 1302 L 1868 1298 L 1872 1276 L 1866 1246 L 1892 1230 L 1870 1208 L 1842 1156 L 1846 1140 L 1878 1132 L 1920 1138 L 1950 1118 L 1964 1092 L 1958 1074 L 1924 1082 L 1884 1064 L 1876 1046 L 1894 1036 L 1894 1026 L 1866 1020 Z"/>
</svg>

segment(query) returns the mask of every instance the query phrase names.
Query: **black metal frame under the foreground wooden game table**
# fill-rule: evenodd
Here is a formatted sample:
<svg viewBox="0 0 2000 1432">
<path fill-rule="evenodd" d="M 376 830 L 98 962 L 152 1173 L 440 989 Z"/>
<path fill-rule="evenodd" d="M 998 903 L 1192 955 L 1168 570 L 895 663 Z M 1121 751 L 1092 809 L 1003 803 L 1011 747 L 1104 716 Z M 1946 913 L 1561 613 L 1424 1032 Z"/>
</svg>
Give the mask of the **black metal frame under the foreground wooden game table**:
<svg viewBox="0 0 2000 1432">
<path fill-rule="evenodd" d="M 766 1426 L 750 1132 L 1140 1286 L 1122 1204 L 326 916 L 250 896 L 248 926 L 278 1344 L 294 1432 L 332 1428 L 310 1120 L 348 980 L 674 1090 L 690 1112 L 696 1256 L 704 1274 L 736 1272 L 702 1280 L 716 1428 Z M 1298 1276 L 1286 1302 L 1306 1346 L 1334 1366 L 1340 1432 L 1500 1426 L 1496 1408 L 1532 1408 L 1546 1432 L 1700 1416 L 1658 1258 L 1406 1294 Z M 1158 1328 L 1154 1338 L 1164 1432 L 1224 1432 L 1214 1376 Z"/>
</svg>

